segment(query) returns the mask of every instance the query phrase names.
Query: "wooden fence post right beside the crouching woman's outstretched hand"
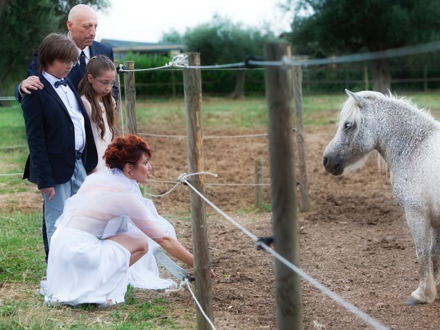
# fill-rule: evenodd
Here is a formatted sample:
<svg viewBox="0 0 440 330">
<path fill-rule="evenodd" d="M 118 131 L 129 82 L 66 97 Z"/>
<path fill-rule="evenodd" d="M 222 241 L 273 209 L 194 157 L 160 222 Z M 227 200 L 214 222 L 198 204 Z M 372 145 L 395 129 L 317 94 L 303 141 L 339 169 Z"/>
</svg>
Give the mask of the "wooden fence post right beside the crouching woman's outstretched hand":
<svg viewBox="0 0 440 330">
<path fill-rule="evenodd" d="M 187 53 L 190 66 L 200 65 L 200 54 Z M 201 74 L 200 69 L 184 69 L 184 95 L 186 113 L 186 135 L 188 153 L 188 173 L 203 170 L 201 140 Z M 202 175 L 188 177 L 188 181 L 204 195 Z M 192 219 L 192 250 L 194 254 L 195 296 L 212 320 L 211 263 L 208 250 L 208 232 L 206 225 L 205 203 L 190 191 Z M 210 329 L 208 321 L 197 309 L 197 329 Z"/>
</svg>

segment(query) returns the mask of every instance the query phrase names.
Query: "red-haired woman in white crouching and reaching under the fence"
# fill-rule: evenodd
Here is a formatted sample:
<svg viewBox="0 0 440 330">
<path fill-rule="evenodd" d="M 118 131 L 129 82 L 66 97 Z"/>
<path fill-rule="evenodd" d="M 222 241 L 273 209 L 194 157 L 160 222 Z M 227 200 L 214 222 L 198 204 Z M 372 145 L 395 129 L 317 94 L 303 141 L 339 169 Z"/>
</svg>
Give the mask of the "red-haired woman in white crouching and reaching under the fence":
<svg viewBox="0 0 440 330">
<path fill-rule="evenodd" d="M 192 254 L 151 217 L 154 206 L 137 185 L 151 175 L 150 158 L 140 137 L 118 137 L 104 153 L 111 170 L 89 175 L 67 199 L 50 245 L 46 303 L 122 303 L 129 267 L 148 251 L 146 236 L 192 267 Z M 127 230 L 132 225 L 140 231 Z"/>
</svg>

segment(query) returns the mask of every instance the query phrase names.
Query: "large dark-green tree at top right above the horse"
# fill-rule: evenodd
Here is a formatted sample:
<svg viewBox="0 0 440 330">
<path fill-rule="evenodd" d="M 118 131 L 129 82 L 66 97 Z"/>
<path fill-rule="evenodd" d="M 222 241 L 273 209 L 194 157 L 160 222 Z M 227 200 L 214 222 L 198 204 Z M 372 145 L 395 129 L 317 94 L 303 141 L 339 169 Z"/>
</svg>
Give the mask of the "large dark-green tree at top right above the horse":
<svg viewBox="0 0 440 330">
<path fill-rule="evenodd" d="M 438 0 L 287 0 L 295 18 L 286 38 L 316 57 L 376 52 L 439 39 Z M 388 61 L 372 63 L 373 89 L 391 86 Z"/>
</svg>

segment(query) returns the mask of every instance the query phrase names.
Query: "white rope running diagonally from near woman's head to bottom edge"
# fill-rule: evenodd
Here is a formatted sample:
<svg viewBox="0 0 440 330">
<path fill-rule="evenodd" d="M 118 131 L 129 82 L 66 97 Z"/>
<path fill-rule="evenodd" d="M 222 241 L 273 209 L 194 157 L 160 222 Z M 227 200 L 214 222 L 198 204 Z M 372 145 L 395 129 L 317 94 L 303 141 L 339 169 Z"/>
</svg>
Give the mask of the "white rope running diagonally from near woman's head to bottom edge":
<svg viewBox="0 0 440 330">
<path fill-rule="evenodd" d="M 200 174 L 200 173 L 192 173 L 190 175 L 196 175 L 196 174 Z M 214 175 L 212 173 L 206 173 L 206 174 L 210 174 L 210 175 Z M 321 292 L 323 292 L 324 294 L 326 294 L 327 296 L 329 296 L 329 298 L 333 299 L 334 301 L 336 301 L 336 303 L 339 303 L 340 305 L 342 305 L 343 307 L 345 307 L 348 311 L 350 311 L 352 314 L 354 314 L 355 316 L 358 316 L 358 318 L 360 318 L 361 320 L 363 320 L 366 324 L 371 325 L 371 327 L 374 327 L 375 329 L 378 330 L 389 330 L 388 327 L 386 327 L 385 325 L 382 325 L 380 322 L 378 322 L 377 320 L 375 320 L 374 318 L 372 318 L 371 316 L 369 316 L 368 314 L 365 314 L 363 311 L 361 311 L 360 309 L 358 309 L 358 307 L 355 307 L 354 305 L 351 305 L 351 303 L 347 302 L 347 300 L 344 300 L 344 298 L 342 298 L 341 296 L 338 296 L 338 294 L 332 292 L 330 289 L 327 289 L 327 287 L 325 287 L 324 285 L 322 285 L 321 283 L 319 283 L 318 281 L 316 281 L 314 278 L 312 278 L 311 276 L 307 275 L 305 272 L 303 272 L 303 270 L 300 270 L 300 268 L 296 267 L 293 263 L 291 263 L 290 261 L 288 261 L 287 259 L 283 258 L 283 256 L 281 256 L 280 254 L 278 254 L 276 251 L 274 251 L 272 248 L 270 248 L 269 246 L 267 246 L 265 243 L 258 241 L 259 238 L 252 234 L 252 232 L 250 232 L 249 230 L 247 230 L 246 228 L 244 228 L 240 223 L 236 222 L 234 219 L 232 219 L 230 216 L 228 216 L 228 214 L 226 214 L 225 212 L 223 212 L 222 210 L 220 210 L 220 208 L 218 208 L 217 206 L 214 205 L 214 203 L 212 203 L 212 201 L 210 201 L 209 199 L 207 199 L 205 196 L 203 196 L 201 194 L 201 192 L 199 192 L 194 186 L 192 186 L 187 180 L 186 177 L 188 177 L 189 175 L 187 174 L 183 174 L 180 175 L 178 180 L 179 181 L 183 181 L 188 187 L 190 187 L 197 195 L 199 195 L 199 197 L 201 199 L 203 199 L 203 201 L 206 201 L 206 203 L 208 203 L 208 205 L 210 205 L 212 208 L 214 208 L 214 210 L 216 210 L 217 212 L 219 212 L 219 214 L 221 214 L 225 219 L 227 219 L 228 221 L 230 221 L 233 225 L 236 226 L 236 228 L 239 228 L 239 230 L 241 230 L 244 234 L 248 235 L 252 241 L 254 241 L 256 243 L 257 246 L 261 246 L 261 248 L 263 248 L 264 250 L 266 250 L 267 252 L 269 252 L 270 254 L 272 254 L 272 256 L 274 256 L 274 258 L 278 259 L 278 261 L 281 261 L 284 265 L 286 265 L 287 267 L 289 267 L 289 269 L 291 269 L 292 271 L 296 272 L 296 274 L 298 274 L 299 276 L 301 276 L 302 278 L 305 279 L 305 281 L 309 282 L 311 285 L 313 285 L 314 287 L 316 287 L 317 289 L 319 289 Z M 258 241 L 258 242 L 257 242 Z"/>
</svg>

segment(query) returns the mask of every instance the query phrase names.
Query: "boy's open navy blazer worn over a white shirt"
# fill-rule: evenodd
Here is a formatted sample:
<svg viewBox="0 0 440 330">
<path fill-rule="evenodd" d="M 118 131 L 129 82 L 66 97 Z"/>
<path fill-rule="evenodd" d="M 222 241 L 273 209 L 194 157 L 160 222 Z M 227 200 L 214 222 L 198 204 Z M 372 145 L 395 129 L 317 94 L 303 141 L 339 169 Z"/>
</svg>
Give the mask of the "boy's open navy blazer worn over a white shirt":
<svg viewBox="0 0 440 330">
<path fill-rule="evenodd" d="M 69 112 L 54 87 L 43 75 L 39 74 L 39 78 L 43 89 L 23 95 L 21 107 L 30 151 L 23 179 L 29 179 L 41 189 L 69 181 L 76 159 L 75 130 Z M 86 144 L 82 159 L 86 172 L 90 173 L 98 164 L 94 135 L 80 96 L 72 83 L 69 87 L 84 117 Z"/>
</svg>

